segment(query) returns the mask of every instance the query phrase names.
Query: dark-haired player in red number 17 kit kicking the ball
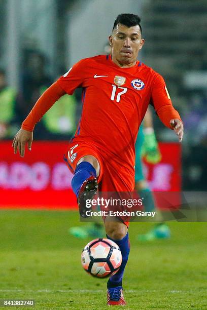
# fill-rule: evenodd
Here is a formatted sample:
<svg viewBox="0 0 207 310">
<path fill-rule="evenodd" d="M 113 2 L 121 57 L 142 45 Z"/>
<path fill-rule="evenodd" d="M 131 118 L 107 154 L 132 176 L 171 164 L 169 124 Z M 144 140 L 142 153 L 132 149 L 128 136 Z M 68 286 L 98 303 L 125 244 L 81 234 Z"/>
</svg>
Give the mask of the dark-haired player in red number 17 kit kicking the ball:
<svg viewBox="0 0 207 310">
<path fill-rule="evenodd" d="M 104 192 L 133 192 L 134 144 L 148 105 L 151 103 L 165 126 L 183 137 L 183 123 L 172 106 L 160 74 L 137 60 L 144 45 L 140 17 L 120 14 L 109 36 L 112 53 L 86 58 L 75 64 L 40 97 L 13 140 L 14 152 L 31 150 L 32 131 L 42 115 L 65 93 L 83 88 L 83 111 L 65 161 L 74 173 L 73 190 L 79 212 L 85 216 L 86 191 L 90 197 Z M 122 253 L 118 272 L 108 281 L 108 305 L 126 304 L 122 278 L 129 255 L 129 222 L 106 217 L 107 237 Z"/>
</svg>

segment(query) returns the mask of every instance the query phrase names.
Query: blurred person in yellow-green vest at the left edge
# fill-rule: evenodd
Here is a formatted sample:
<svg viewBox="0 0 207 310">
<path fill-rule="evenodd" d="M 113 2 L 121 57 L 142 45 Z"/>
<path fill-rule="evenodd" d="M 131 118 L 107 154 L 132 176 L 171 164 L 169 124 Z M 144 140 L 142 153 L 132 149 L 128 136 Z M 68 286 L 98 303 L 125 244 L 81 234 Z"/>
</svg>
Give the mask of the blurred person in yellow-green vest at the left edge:
<svg viewBox="0 0 207 310">
<path fill-rule="evenodd" d="M 0 139 L 14 134 L 16 90 L 7 85 L 6 74 L 0 68 Z M 15 128 L 16 131 L 16 128 Z"/>
</svg>

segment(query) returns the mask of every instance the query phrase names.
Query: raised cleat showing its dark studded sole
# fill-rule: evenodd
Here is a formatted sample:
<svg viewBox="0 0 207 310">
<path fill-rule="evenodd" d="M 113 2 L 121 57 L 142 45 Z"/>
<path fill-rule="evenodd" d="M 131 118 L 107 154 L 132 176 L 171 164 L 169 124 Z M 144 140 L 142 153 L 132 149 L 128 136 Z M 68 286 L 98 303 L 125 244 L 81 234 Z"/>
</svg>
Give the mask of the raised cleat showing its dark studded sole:
<svg viewBox="0 0 207 310">
<path fill-rule="evenodd" d="M 93 176 L 90 176 L 81 185 L 78 195 L 78 207 L 79 207 L 79 213 L 82 217 L 89 216 L 86 215 L 86 211 L 91 209 L 86 208 L 86 200 L 93 199 L 94 195 L 96 195 L 97 193 L 97 190 L 98 190 L 97 179 Z"/>
</svg>

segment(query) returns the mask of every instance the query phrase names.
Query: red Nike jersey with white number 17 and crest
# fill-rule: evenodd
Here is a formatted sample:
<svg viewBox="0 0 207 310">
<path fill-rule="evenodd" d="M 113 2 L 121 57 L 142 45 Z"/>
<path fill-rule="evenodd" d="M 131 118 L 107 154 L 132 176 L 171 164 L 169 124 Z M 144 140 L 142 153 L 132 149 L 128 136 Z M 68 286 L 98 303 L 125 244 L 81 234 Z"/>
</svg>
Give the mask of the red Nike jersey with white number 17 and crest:
<svg viewBox="0 0 207 310">
<path fill-rule="evenodd" d="M 121 68 L 106 55 L 82 59 L 57 83 L 69 95 L 83 88 L 82 115 L 74 139 L 92 143 L 107 158 L 129 169 L 134 167 L 134 144 L 149 103 L 169 128 L 171 119 L 180 119 L 162 76 L 139 61 Z"/>
</svg>

